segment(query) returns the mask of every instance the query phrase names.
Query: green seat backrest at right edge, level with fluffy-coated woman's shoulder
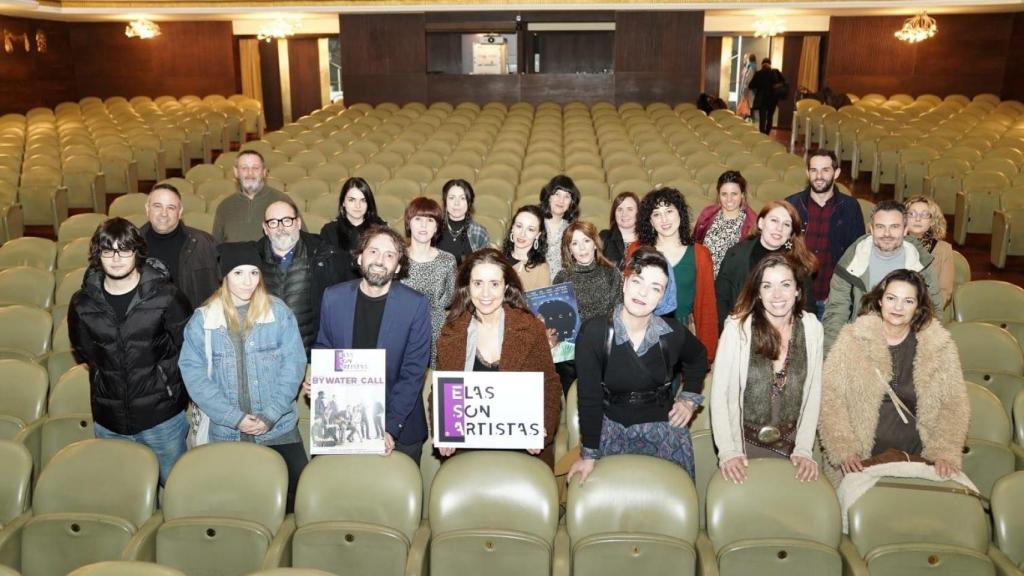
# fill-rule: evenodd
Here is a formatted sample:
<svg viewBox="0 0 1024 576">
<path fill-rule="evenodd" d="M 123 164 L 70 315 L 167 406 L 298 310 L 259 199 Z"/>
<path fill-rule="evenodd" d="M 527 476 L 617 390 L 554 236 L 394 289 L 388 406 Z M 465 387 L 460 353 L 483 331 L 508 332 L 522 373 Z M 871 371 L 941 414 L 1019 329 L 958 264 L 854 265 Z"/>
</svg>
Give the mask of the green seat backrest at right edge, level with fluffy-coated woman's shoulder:
<svg viewBox="0 0 1024 576">
<path fill-rule="evenodd" d="M 953 322 L 947 326 L 966 370 L 1024 374 L 1024 355 L 1010 332 L 980 322 Z"/>
</svg>

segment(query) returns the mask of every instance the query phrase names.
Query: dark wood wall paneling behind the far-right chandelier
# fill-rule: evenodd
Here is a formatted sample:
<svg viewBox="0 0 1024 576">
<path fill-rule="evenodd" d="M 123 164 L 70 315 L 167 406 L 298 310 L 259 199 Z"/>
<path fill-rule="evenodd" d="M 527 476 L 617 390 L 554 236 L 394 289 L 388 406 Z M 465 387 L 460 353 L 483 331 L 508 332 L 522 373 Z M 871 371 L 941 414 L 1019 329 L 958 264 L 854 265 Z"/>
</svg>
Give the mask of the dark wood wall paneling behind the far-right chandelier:
<svg viewBox="0 0 1024 576">
<path fill-rule="evenodd" d="M 1002 13 L 935 18 L 935 37 L 907 44 L 893 36 L 905 16 L 833 17 L 827 85 L 855 94 L 1000 92 L 1015 18 Z"/>
</svg>

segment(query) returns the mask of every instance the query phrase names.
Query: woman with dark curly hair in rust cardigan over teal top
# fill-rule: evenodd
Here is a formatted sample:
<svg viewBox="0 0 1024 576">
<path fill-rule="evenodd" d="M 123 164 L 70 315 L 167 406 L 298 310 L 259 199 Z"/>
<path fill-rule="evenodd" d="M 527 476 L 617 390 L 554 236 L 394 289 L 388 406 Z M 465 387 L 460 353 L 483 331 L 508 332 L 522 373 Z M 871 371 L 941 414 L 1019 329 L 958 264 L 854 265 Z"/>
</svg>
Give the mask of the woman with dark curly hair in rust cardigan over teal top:
<svg viewBox="0 0 1024 576">
<path fill-rule="evenodd" d="M 714 362 L 718 348 L 718 305 L 711 252 L 690 236 L 690 214 L 683 195 L 674 188 L 652 190 L 640 202 L 637 242 L 652 246 L 669 261 L 669 287 L 655 312 L 689 327 Z"/>
</svg>

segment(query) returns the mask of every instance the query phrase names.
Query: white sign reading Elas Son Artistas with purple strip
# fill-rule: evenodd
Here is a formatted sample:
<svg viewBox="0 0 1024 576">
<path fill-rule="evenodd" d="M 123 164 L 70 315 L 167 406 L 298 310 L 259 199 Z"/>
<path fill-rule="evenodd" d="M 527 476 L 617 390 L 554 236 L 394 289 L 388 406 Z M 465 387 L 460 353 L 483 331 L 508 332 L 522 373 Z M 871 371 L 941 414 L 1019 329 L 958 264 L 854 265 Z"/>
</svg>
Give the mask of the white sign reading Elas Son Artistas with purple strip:
<svg viewBox="0 0 1024 576">
<path fill-rule="evenodd" d="M 434 372 L 434 446 L 544 448 L 543 372 Z"/>
</svg>

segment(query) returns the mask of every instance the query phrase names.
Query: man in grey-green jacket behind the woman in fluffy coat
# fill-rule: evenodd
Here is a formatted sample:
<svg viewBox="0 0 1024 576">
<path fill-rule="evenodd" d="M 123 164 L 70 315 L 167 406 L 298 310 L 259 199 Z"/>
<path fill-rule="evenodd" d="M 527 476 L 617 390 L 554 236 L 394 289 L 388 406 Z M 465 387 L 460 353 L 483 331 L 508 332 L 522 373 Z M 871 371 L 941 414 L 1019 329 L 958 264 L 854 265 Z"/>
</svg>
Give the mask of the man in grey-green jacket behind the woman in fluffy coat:
<svg viewBox="0 0 1024 576">
<path fill-rule="evenodd" d="M 932 302 L 940 302 L 939 283 L 932 254 L 906 236 L 906 208 L 884 200 L 871 210 L 871 230 L 854 242 L 840 258 L 828 287 L 828 303 L 822 320 L 825 354 L 840 330 L 860 312 L 860 299 L 887 274 L 907 269 L 920 272 L 928 283 Z"/>
</svg>

